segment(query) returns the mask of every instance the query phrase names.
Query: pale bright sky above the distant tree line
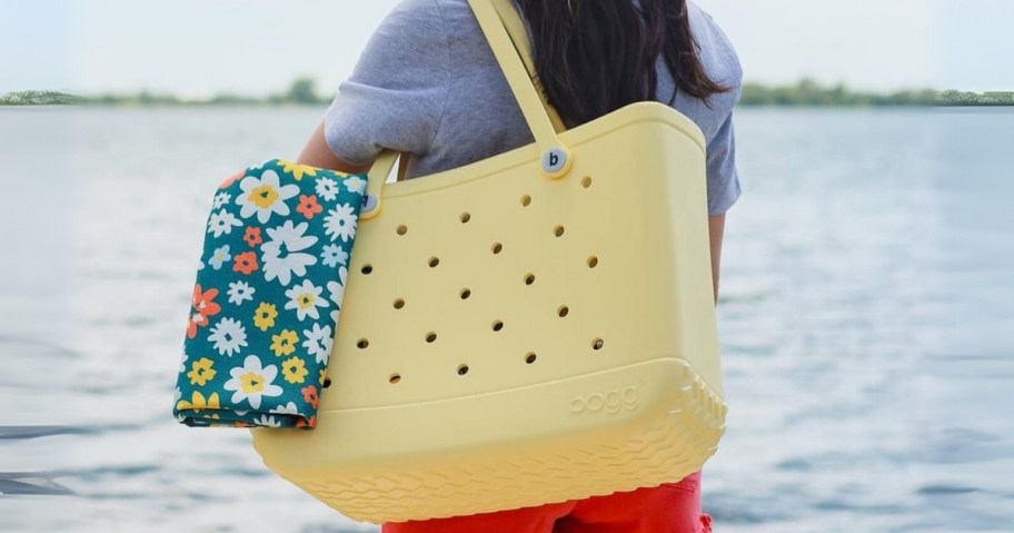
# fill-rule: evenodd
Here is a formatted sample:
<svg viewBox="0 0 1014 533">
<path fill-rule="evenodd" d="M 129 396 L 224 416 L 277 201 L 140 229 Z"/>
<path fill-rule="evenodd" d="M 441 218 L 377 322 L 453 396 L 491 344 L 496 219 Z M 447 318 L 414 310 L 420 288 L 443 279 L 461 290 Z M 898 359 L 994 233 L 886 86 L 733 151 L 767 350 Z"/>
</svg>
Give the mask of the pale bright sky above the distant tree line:
<svg viewBox="0 0 1014 533">
<path fill-rule="evenodd" d="M 0 93 L 331 92 L 399 0 L 0 0 Z M 747 81 L 1014 90 L 1012 0 L 696 0 Z"/>
</svg>

